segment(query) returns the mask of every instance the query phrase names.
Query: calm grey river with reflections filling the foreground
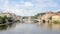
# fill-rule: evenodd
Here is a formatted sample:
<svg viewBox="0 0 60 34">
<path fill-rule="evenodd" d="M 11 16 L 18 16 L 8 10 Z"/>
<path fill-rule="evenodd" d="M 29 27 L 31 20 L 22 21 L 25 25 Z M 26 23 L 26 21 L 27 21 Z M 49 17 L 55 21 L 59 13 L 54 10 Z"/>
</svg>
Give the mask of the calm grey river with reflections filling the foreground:
<svg viewBox="0 0 60 34">
<path fill-rule="evenodd" d="M 59 24 L 14 23 L 0 26 L 0 34 L 60 34 Z"/>
</svg>

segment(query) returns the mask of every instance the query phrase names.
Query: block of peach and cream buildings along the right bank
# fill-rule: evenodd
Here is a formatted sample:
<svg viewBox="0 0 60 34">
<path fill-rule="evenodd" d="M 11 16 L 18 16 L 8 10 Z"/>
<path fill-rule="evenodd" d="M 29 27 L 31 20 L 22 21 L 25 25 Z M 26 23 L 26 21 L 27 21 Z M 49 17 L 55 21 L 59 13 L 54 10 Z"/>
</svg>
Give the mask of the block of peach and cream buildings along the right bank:
<svg viewBox="0 0 60 34">
<path fill-rule="evenodd" d="M 47 11 L 46 14 L 40 18 L 42 20 L 60 20 L 60 11 L 59 12 Z"/>
</svg>

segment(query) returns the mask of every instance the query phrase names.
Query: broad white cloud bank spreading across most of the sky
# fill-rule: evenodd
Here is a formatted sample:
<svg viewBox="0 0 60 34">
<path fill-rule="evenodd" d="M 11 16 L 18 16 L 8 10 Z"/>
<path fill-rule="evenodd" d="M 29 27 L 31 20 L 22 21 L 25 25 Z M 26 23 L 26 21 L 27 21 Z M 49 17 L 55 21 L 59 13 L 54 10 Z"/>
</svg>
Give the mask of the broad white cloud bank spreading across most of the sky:
<svg viewBox="0 0 60 34">
<path fill-rule="evenodd" d="M 38 11 L 43 10 L 46 7 L 56 7 L 60 9 L 60 6 L 55 3 L 53 0 L 37 0 L 38 2 L 35 4 L 33 2 L 25 2 L 20 1 L 20 4 L 14 2 L 14 4 L 9 4 L 8 0 L 0 0 L 0 2 L 4 2 L 4 5 L 0 6 L 0 9 L 5 10 L 4 12 L 15 13 L 17 15 L 34 15 L 38 13 Z M 30 9 L 31 8 L 31 9 Z M 27 10 L 29 9 L 29 10 Z M 29 11 L 29 12 L 28 12 Z"/>
</svg>

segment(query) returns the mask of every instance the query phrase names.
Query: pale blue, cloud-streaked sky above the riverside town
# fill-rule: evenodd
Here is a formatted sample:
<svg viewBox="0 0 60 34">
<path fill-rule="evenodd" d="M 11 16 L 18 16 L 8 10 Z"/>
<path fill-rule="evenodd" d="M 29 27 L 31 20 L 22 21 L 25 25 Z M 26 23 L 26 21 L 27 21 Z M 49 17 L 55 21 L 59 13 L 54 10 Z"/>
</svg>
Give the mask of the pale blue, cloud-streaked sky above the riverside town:
<svg viewBox="0 0 60 34">
<path fill-rule="evenodd" d="M 0 0 L 0 12 L 20 16 L 34 16 L 37 13 L 60 10 L 60 0 Z"/>
</svg>

